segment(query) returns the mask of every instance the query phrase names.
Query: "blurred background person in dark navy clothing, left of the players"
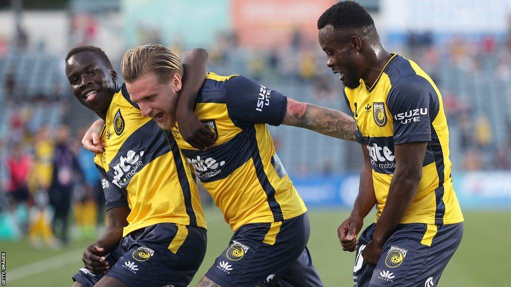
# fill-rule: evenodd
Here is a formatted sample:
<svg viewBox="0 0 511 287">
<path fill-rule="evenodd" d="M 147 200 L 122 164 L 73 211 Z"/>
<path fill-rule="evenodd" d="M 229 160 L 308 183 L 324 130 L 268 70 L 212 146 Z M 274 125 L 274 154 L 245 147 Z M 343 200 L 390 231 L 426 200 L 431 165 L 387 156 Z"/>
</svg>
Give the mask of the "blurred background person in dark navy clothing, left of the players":
<svg viewBox="0 0 511 287">
<path fill-rule="evenodd" d="M 68 242 L 68 215 L 71 208 L 74 175 L 82 175 L 78 161 L 69 147 L 69 128 L 59 126 L 53 159 L 53 177 L 50 185 L 50 204 L 55 210 L 53 232 L 64 243 Z"/>
</svg>

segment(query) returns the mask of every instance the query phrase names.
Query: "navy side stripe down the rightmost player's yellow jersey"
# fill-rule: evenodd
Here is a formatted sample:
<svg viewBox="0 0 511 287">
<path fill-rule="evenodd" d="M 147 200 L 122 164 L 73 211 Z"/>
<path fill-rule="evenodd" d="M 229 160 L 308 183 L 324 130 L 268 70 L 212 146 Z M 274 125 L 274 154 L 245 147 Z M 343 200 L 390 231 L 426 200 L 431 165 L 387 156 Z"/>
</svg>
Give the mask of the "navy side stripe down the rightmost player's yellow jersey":
<svg viewBox="0 0 511 287">
<path fill-rule="evenodd" d="M 436 173 L 438 174 L 438 187 L 435 189 L 436 198 L 435 225 L 443 225 L 444 214 L 446 211 L 446 206 L 443 199 L 445 180 L 444 153 L 442 152 L 442 146 L 440 146 L 440 141 L 438 140 L 438 135 L 436 134 L 433 125 L 431 125 L 431 141 L 428 143 L 428 146 L 431 148 L 431 151 L 433 153 L 436 165 Z"/>
</svg>

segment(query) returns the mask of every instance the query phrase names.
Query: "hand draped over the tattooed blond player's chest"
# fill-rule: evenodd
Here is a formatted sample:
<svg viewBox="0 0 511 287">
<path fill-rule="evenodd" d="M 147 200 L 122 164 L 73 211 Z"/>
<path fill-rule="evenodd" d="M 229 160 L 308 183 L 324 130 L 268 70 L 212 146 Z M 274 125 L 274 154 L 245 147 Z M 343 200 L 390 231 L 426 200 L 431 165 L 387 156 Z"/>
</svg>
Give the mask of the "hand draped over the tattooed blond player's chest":
<svg viewBox="0 0 511 287">
<path fill-rule="evenodd" d="M 176 113 L 179 133 L 190 146 L 205 151 L 213 146 L 215 133 L 206 129 L 192 111 Z"/>
</svg>

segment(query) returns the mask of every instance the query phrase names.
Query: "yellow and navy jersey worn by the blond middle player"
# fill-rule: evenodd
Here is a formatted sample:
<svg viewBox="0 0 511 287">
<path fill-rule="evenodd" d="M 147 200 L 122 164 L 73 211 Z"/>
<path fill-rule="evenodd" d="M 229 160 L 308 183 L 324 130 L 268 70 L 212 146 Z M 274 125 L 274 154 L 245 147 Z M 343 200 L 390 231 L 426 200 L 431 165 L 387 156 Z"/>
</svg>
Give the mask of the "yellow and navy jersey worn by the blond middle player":
<svg viewBox="0 0 511 287">
<path fill-rule="evenodd" d="M 243 76 L 208 73 L 195 114 L 216 134 L 215 146 L 192 148 L 172 133 L 195 174 L 233 230 L 280 222 L 307 211 L 280 159 L 266 124 L 278 126 L 287 98 Z"/>
</svg>

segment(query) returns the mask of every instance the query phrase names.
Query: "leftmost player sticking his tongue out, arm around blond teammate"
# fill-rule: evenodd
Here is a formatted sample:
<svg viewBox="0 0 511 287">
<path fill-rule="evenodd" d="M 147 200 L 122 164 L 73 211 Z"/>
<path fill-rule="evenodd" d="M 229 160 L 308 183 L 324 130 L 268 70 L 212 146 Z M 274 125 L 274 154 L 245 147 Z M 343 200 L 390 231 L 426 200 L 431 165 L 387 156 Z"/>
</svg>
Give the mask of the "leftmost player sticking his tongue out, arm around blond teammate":
<svg viewBox="0 0 511 287">
<path fill-rule="evenodd" d="M 203 83 L 204 53 L 185 57 L 183 92 L 197 93 Z M 65 62 L 77 100 L 106 122 L 95 162 L 108 226 L 86 248 L 74 286 L 187 286 L 204 258 L 206 225 L 186 159 L 172 136 L 141 115 L 102 50 L 78 47 Z"/>
</svg>

